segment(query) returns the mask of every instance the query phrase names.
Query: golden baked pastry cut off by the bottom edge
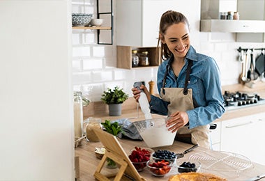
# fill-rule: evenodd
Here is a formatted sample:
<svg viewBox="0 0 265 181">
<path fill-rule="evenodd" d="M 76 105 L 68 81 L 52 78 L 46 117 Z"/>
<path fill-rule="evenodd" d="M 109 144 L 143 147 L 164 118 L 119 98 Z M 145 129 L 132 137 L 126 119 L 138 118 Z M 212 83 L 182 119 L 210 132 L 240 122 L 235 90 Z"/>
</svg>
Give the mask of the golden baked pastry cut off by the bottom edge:
<svg viewBox="0 0 265 181">
<path fill-rule="evenodd" d="M 211 173 L 197 173 L 188 172 L 180 173 L 178 175 L 172 175 L 169 181 L 225 181 L 225 178 L 220 178 L 217 175 Z"/>
</svg>

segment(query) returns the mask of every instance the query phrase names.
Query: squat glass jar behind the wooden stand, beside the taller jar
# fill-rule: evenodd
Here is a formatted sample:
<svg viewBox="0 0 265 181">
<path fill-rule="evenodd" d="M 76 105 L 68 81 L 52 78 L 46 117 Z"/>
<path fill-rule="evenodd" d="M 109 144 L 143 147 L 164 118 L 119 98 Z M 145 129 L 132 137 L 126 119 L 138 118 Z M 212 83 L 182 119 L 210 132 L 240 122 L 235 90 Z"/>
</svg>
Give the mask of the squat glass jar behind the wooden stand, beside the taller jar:
<svg viewBox="0 0 265 181">
<path fill-rule="evenodd" d="M 102 129 L 102 125 L 101 125 L 101 119 L 100 118 L 87 118 L 84 121 L 85 125 L 85 134 L 86 134 L 86 141 L 90 141 L 90 142 L 98 142 L 100 141 L 98 139 L 98 136 L 96 135 L 96 133 L 94 132 L 94 128 L 96 129 Z"/>
</svg>

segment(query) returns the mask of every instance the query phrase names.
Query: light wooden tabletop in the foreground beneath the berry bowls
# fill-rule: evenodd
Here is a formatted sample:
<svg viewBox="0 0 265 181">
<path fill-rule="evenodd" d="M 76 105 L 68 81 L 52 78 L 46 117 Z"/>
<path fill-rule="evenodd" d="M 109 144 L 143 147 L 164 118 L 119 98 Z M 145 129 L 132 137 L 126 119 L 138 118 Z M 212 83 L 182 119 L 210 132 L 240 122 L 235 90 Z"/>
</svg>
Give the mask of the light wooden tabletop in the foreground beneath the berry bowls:
<svg viewBox="0 0 265 181">
<path fill-rule="evenodd" d="M 121 143 L 123 150 L 125 150 L 125 152 L 128 154 L 129 154 L 129 150 L 134 148 L 135 146 L 146 147 L 146 144 L 144 143 L 144 141 L 132 141 L 128 139 L 119 139 L 119 143 Z M 159 149 L 170 150 L 170 151 L 174 151 L 178 153 L 178 152 L 183 152 L 184 150 L 190 148 L 191 146 L 192 145 L 181 143 L 179 141 L 175 141 L 173 145 L 167 146 L 167 147 L 161 147 Z M 75 148 L 75 155 L 79 156 L 79 169 L 80 169 L 79 180 L 95 180 L 95 178 L 93 177 L 93 174 L 95 173 L 96 167 L 98 166 L 100 162 L 100 159 L 97 159 L 94 153 L 94 150 L 96 147 L 103 147 L 103 145 L 100 142 L 89 143 L 87 141 L 83 141 L 82 145 Z M 158 148 L 153 148 L 153 150 L 158 150 Z M 204 152 L 204 151 L 213 152 L 213 154 L 215 154 L 215 152 L 212 150 L 207 150 L 205 148 L 198 147 L 198 148 L 195 148 L 195 150 L 192 150 L 192 152 L 188 152 L 183 158 L 181 158 L 181 160 L 183 160 L 183 162 L 187 161 L 190 155 L 194 155 L 195 153 Z M 115 172 L 115 169 L 113 170 L 113 168 L 104 168 L 104 169 L 106 172 L 109 172 L 109 173 Z M 215 175 L 221 176 L 222 178 L 227 178 L 227 180 L 247 180 L 248 178 L 252 178 L 254 176 L 265 173 L 265 166 L 252 163 L 252 166 L 250 166 L 250 168 L 247 168 L 244 171 L 241 171 L 239 173 L 207 171 L 207 170 L 204 170 L 202 166 L 202 169 L 200 170 L 200 172 L 213 173 Z M 174 167 L 168 175 L 165 175 L 165 177 L 162 177 L 162 178 L 154 177 L 146 169 L 142 172 L 139 172 L 139 174 L 146 180 L 168 180 L 170 175 L 176 175 L 177 173 L 178 172 L 177 172 L 176 167 Z"/>
</svg>

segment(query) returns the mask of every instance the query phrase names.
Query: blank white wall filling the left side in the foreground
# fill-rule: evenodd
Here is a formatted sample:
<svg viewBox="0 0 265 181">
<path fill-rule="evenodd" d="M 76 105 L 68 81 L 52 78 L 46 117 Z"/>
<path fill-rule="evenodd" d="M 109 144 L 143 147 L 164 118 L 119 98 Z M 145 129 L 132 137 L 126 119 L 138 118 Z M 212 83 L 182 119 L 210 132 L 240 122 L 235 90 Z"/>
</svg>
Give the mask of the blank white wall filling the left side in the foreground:
<svg viewBox="0 0 265 181">
<path fill-rule="evenodd" d="M 70 1 L 0 1 L 0 180 L 74 180 Z"/>
</svg>

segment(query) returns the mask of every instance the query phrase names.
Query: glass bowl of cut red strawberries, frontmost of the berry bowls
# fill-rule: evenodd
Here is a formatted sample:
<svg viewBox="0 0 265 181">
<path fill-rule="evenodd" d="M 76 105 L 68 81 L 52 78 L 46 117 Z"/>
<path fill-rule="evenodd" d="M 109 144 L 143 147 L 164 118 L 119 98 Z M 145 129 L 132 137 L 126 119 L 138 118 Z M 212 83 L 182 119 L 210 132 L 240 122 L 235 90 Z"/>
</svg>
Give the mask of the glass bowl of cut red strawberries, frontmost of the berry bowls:
<svg viewBox="0 0 265 181">
<path fill-rule="evenodd" d="M 171 161 L 165 159 L 150 159 L 146 164 L 149 172 L 156 177 L 165 176 L 171 171 L 172 166 L 174 165 Z"/>
</svg>

